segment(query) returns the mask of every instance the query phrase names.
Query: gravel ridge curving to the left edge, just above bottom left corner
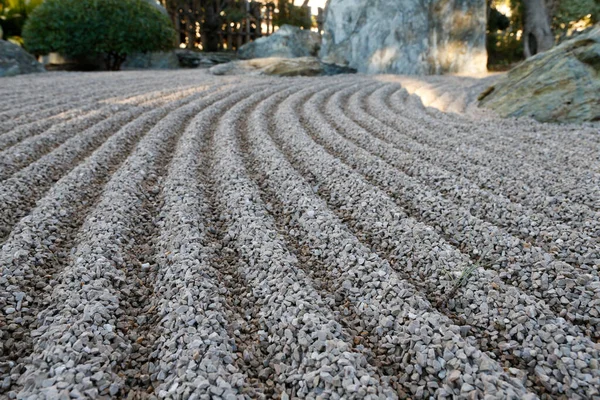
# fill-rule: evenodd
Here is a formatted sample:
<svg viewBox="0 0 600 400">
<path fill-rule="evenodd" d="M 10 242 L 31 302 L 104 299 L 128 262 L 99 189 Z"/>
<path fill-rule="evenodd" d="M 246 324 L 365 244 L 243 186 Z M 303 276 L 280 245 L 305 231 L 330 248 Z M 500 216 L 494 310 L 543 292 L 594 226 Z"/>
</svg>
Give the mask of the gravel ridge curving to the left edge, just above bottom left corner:
<svg viewBox="0 0 600 400">
<path fill-rule="evenodd" d="M 49 293 L 56 277 L 67 263 L 77 230 L 93 206 L 101 188 L 119 167 L 140 137 L 169 111 L 190 99 L 174 103 L 125 125 L 84 163 L 54 185 L 27 218 L 22 219 L 0 252 L 0 309 L 14 313 L 0 315 L 2 355 L 9 384 L 22 372 L 31 352 L 30 333 L 36 329 L 37 313 L 50 302 Z"/>
</svg>

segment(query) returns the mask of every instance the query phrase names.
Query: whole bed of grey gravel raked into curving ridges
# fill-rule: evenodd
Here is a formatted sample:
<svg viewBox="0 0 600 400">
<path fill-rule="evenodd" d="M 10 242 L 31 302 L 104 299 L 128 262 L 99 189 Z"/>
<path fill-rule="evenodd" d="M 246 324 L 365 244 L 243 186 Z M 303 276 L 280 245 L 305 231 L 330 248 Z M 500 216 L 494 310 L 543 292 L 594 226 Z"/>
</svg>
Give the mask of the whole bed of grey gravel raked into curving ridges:
<svg viewBox="0 0 600 400">
<path fill-rule="evenodd" d="M 3 79 L 0 398 L 600 398 L 598 126 L 483 84 Z"/>
</svg>

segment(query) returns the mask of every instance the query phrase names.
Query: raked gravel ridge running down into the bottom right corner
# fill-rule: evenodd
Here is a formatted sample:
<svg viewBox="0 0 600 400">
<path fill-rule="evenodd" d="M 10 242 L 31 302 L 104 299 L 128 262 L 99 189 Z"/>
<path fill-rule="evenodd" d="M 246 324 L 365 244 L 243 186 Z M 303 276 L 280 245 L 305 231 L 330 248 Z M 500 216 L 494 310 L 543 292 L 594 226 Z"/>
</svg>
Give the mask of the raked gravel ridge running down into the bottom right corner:
<svg viewBox="0 0 600 400">
<path fill-rule="evenodd" d="M 293 110 L 300 107 L 303 100 L 305 98 L 296 96 L 285 104 L 289 107 L 288 110 Z M 408 267 L 412 264 L 412 268 L 416 269 L 412 273 L 425 280 L 430 287 L 430 293 L 437 293 L 438 297 L 448 293 L 453 282 L 469 270 L 468 259 L 465 260 L 459 252 L 444 243 L 431 228 L 422 226 L 415 229 L 412 227 L 414 221 L 402 220 L 402 210 L 395 206 L 388 196 L 362 180 L 351 169 L 341 164 L 339 159 L 328 155 L 307 137 L 302 128 L 304 125 L 297 117 L 292 119 L 290 113 L 291 111 L 288 111 L 285 114 L 287 129 L 279 128 L 276 131 L 287 132 L 280 140 L 288 157 L 326 187 L 331 203 L 341 203 L 346 209 L 357 214 L 364 213 L 361 225 L 371 229 L 385 227 L 386 231 L 392 232 L 391 238 L 403 234 L 400 237 L 405 239 L 399 239 L 398 254 L 402 261 L 409 261 L 406 253 L 410 254 L 412 249 L 415 255 L 429 256 L 430 259 L 422 264 L 415 265 L 412 260 L 406 264 Z M 277 125 L 284 126 L 282 124 L 285 120 L 281 117 L 277 120 Z M 290 121 L 294 121 L 295 124 L 289 126 Z M 291 135 L 289 132 L 293 129 L 295 132 Z M 388 217 L 390 214 L 392 218 Z M 374 218 L 377 219 L 374 221 Z M 387 222 L 387 226 L 383 225 L 384 222 Z M 410 240 L 411 236 L 414 238 L 415 235 L 420 236 L 416 243 L 414 239 Z M 559 393 L 569 393 L 569 385 L 572 384 L 572 389 L 577 392 L 588 395 L 596 393 L 595 386 L 600 374 L 592 369 L 592 365 L 598 356 L 598 350 L 589 338 L 583 336 L 563 318 L 556 318 L 543 303 L 517 288 L 506 286 L 495 271 L 488 271 L 479 266 L 471 272 L 473 277 L 466 279 L 464 287 L 461 286 L 448 303 L 451 309 L 461 312 L 466 322 L 474 329 L 482 330 L 480 327 L 483 327 L 483 332 L 478 332 L 482 338 L 482 348 L 488 350 L 487 347 L 491 345 L 491 349 L 498 351 L 505 360 L 517 363 L 523 368 L 528 366 L 532 358 L 535 361 L 535 356 L 538 356 L 537 363 L 534 363 L 537 364 L 534 365 L 537 369 L 530 378 L 539 381 L 538 385 L 543 384 L 548 390 L 552 388 Z M 493 293 L 490 295 L 490 292 Z M 544 322 L 540 322 L 540 319 Z M 551 332 L 555 333 L 555 337 Z M 570 351 L 569 346 L 564 345 L 567 336 L 572 341 L 568 345 L 578 350 L 583 349 L 574 359 L 565 357 L 563 361 L 567 363 L 568 368 L 565 365 L 557 366 L 552 352 L 561 345 L 566 348 L 565 351 Z M 529 350 L 534 357 L 528 353 Z M 573 353 L 570 354 L 573 356 Z"/>
</svg>

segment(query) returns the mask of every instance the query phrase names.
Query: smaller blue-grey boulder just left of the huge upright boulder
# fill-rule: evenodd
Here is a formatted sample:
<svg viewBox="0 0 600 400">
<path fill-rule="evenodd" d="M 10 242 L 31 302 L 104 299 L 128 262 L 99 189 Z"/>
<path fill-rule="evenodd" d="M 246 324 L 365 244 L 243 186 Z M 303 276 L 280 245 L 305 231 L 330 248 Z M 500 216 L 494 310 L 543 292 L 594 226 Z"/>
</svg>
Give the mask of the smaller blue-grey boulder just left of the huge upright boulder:
<svg viewBox="0 0 600 400">
<path fill-rule="evenodd" d="M 315 57 L 321 47 L 321 35 L 291 25 L 277 32 L 246 43 L 238 50 L 240 59 L 266 57 Z"/>
</svg>

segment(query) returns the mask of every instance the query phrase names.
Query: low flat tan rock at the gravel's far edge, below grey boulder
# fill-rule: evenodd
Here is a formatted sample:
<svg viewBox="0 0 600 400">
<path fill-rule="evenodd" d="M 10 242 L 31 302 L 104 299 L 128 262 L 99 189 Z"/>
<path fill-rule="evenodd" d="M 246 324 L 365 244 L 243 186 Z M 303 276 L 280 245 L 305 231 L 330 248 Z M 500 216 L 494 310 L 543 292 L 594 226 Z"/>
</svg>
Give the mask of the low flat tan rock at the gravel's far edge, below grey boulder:
<svg viewBox="0 0 600 400">
<path fill-rule="evenodd" d="M 209 71 L 213 75 L 316 76 L 321 75 L 323 68 L 315 57 L 270 57 L 232 61 Z"/>
</svg>

